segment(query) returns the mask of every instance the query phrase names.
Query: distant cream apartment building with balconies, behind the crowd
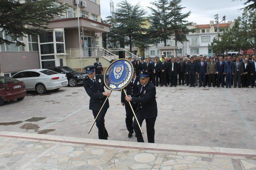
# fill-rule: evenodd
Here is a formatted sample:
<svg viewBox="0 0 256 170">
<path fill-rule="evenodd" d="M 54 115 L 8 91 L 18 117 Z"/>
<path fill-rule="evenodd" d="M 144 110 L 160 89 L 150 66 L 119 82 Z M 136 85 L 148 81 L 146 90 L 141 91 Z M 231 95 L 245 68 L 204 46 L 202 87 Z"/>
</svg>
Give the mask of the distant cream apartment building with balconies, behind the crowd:
<svg viewBox="0 0 256 170">
<path fill-rule="evenodd" d="M 228 21 L 227 23 L 220 23 L 220 34 L 224 29 L 230 29 L 234 25 L 234 21 Z M 189 33 L 186 35 L 187 42 L 178 42 L 175 46 L 174 35 L 167 40 L 167 47 L 164 47 L 164 42 L 160 41 L 157 46 L 152 46 L 146 51 L 146 57 L 160 57 L 165 55 L 166 57 L 173 56 L 186 56 L 186 55 L 208 55 L 212 56 L 212 48 L 210 44 L 214 37 L 218 37 L 217 25 L 214 21 L 210 21 L 210 24 L 197 25 L 193 23 L 189 26 L 190 29 L 196 29 L 195 33 Z M 177 54 L 176 50 L 177 49 Z"/>
</svg>

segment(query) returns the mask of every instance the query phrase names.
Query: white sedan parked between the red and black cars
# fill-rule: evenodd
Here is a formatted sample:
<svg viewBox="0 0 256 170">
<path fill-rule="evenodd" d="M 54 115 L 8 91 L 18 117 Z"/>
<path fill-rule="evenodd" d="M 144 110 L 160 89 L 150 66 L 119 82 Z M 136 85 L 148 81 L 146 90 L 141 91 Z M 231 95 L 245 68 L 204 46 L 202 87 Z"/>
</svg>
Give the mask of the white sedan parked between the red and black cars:
<svg viewBox="0 0 256 170">
<path fill-rule="evenodd" d="M 48 69 L 23 70 L 12 76 L 17 80 L 23 81 L 28 91 L 44 94 L 46 90 L 58 90 L 63 86 L 68 86 L 65 74 L 60 74 Z"/>
</svg>

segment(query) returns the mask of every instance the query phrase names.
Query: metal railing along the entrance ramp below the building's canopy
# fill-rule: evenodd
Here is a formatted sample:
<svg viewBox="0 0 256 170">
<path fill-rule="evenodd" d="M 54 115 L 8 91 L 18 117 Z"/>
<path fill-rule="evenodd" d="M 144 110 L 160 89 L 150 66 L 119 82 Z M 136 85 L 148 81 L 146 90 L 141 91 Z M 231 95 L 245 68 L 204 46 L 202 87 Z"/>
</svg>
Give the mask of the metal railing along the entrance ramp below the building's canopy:
<svg viewBox="0 0 256 170">
<path fill-rule="evenodd" d="M 79 58 L 81 57 L 104 57 L 108 61 L 112 59 L 118 59 L 118 56 L 102 47 L 90 47 L 81 49 L 66 49 L 67 57 L 69 58 Z"/>
</svg>

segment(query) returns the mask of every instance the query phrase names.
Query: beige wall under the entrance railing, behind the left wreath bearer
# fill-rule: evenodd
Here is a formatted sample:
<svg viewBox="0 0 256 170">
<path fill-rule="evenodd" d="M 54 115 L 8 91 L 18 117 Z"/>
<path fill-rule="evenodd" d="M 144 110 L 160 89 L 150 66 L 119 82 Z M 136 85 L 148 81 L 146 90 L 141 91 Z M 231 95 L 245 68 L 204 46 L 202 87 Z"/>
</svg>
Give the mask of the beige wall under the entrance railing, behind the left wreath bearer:
<svg viewBox="0 0 256 170">
<path fill-rule="evenodd" d="M 102 64 L 103 69 L 105 70 L 109 65 L 109 61 L 103 57 L 98 57 L 98 58 L 100 59 L 100 63 Z M 78 58 L 78 57 L 67 58 L 66 60 L 67 60 L 67 66 L 70 66 L 77 70 L 79 70 L 81 68 L 80 58 Z M 89 65 L 93 65 L 95 62 L 96 62 L 95 57 L 82 57 L 82 68 L 89 66 Z"/>
</svg>

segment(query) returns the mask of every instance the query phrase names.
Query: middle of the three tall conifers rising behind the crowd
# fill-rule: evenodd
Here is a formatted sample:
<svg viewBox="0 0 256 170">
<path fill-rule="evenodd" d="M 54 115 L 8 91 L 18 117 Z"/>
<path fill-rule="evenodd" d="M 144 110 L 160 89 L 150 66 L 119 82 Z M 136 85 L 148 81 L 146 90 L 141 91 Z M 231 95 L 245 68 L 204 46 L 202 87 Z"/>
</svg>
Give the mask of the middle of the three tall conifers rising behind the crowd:
<svg viewBox="0 0 256 170">
<path fill-rule="evenodd" d="M 166 40 L 170 39 L 169 37 L 172 35 L 172 28 L 170 27 L 170 4 L 168 0 L 157 0 L 150 2 L 150 4 L 154 6 L 148 7 L 152 11 L 152 14 L 149 16 L 149 33 L 152 44 L 157 44 L 162 40 L 166 47 Z"/>
</svg>

